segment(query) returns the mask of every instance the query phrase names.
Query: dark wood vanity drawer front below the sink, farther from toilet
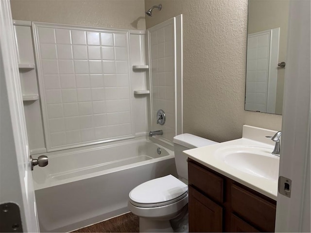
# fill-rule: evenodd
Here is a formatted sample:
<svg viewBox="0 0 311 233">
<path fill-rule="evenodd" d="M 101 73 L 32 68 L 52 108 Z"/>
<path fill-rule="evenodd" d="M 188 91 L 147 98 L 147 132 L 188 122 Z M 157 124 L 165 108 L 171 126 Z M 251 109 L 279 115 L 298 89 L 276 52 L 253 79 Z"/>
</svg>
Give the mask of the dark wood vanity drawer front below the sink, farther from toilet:
<svg viewBox="0 0 311 233">
<path fill-rule="evenodd" d="M 231 203 L 234 212 L 263 231 L 274 232 L 276 222 L 275 204 L 235 184 L 231 185 Z"/>
</svg>

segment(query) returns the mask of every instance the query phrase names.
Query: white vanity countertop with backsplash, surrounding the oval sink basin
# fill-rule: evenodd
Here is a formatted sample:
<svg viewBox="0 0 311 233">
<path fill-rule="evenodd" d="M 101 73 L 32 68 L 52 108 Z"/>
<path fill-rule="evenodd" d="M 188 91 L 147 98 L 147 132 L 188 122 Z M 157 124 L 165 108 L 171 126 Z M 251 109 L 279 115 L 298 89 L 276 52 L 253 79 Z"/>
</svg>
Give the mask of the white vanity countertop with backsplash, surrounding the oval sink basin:
<svg viewBox="0 0 311 233">
<path fill-rule="evenodd" d="M 247 133 L 245 133 L 247 132 Z M 188 155 L 190 159 L 207 166 L 216 172 L 239 182 L 273 200 L 276 200 L 277 197 L 277 180 L 271 180 L 251 174 L 247 174 L 241 170 L 236 169 L 234 166 L 230 166 L 217 158 L 215 152 L 218 149 L 231 147 L 231 146 L 252 146 L 263 148 L 265 150 L 270 150 L 271 152 L 274 149 L 274 143 L 267 138 L 264 138 L 263 135 L 274 135 L 276 131 L 260 129 L 251 126 L 243 126 L 243 137 L 240 139 L 227 141 L 219 144 L 214 144 L 206 147 L 200 147 L 191 150 L 183 151 Z M 254 137 L 255 135 L 255 137 Z M 257 139 L 252 140 L 253 139 Z M 260 141 L 258 141 L 258 138 Z M 275 156 L 272 155 L 271 156 Z M 277 156 L 276 156 L 277 157 Z M 279 159 L 279 157 L 277 157 Z M 276 172 L 278 173 L 278 167 Z M 208 181 L 207 181 L 208 182 Z"/>
</svg>

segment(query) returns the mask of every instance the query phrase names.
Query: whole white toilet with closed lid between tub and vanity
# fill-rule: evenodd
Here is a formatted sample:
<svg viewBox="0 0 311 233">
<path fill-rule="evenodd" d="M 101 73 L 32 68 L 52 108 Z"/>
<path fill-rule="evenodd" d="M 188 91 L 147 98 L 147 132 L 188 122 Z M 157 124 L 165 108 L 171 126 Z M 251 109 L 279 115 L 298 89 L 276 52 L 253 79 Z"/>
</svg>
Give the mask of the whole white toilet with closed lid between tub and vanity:
<svg viewBox="0 0 311 233">
<path fill-rule="evenodd" d="M 139 216 L 139 232 L 188 232 L 188 164 L 182 151 L 217 142 L 184 133 L 173 143 L 178 179 L 156 178 L 129 193 L 128 208 Z"/>
</svg>

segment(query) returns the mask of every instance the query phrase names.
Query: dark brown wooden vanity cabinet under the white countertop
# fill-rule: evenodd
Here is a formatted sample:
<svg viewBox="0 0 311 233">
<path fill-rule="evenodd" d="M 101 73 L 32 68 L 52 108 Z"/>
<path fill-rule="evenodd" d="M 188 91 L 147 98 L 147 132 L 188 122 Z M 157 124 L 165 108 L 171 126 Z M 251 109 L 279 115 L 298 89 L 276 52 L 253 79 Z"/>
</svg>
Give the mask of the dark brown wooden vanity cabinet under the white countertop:
<svg viewBox="0 0 311 233">
<path fill-rule="evenodd" d="M 189 232 L 274 232 L 276 201 L 188 159 Z"/>
</svg>

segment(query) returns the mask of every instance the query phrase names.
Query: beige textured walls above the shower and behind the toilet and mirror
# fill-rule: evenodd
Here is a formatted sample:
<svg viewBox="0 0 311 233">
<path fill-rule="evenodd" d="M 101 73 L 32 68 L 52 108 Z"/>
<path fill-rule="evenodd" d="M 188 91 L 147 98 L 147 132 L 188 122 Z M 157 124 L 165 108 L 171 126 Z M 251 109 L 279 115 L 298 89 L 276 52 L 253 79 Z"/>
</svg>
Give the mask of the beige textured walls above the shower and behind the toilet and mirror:
<svg viewBox="0 0 311 233">
<path fill-rule="evenodd" d="M 279 130 L 281 116 L 244 111 L 247 0 L 145 0 L 149 28 L 184 15 L 184 132 L 215 141 L 242 125 Z M 143 0 L 11 0 L 14 19 L 144 29 Z"/>
</svg>

